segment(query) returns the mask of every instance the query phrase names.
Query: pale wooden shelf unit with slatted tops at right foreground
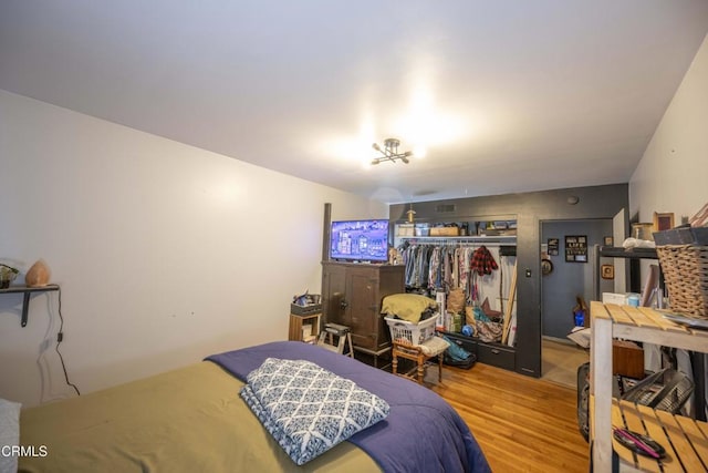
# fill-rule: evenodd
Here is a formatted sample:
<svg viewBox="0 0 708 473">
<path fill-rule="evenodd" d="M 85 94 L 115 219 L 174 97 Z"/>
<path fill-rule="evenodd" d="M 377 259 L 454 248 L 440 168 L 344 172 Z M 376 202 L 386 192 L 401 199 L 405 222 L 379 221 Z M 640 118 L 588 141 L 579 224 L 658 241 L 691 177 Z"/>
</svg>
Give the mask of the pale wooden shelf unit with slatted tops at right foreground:
<svg viewBox="0 0 708 473">
<path fill-rule="evenodd" d="M 612 340 L 656 343 L 708 352 L 708 331 L 694 330 L 649 308 L 591 302 L 591 443 L 593 470 L 608 472 L 612 452 L 621 459 L 621 470 L 649 472 L 708 471 L 708 424 L 665 411 L 654 411 L 612 398 Z M 633 454 L 612 436 L 613 426 L 644 432 L 659 442 L 667 456 L 662 461 Z"/>
</svg>

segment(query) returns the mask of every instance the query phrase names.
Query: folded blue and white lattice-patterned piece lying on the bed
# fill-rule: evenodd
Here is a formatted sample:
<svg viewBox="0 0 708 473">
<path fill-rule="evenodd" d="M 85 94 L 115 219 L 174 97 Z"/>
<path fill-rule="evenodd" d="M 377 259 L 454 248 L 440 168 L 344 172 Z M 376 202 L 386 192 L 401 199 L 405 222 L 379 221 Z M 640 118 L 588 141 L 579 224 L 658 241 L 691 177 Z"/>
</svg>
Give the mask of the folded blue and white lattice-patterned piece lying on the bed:
<svg viewBox="0 0 708 473">
<path fill-rule="evenodd" d="M 388 415 L 386 401 L 304 360 L 268 358 L 241 398 L 299 465 Z"/>
</svg>

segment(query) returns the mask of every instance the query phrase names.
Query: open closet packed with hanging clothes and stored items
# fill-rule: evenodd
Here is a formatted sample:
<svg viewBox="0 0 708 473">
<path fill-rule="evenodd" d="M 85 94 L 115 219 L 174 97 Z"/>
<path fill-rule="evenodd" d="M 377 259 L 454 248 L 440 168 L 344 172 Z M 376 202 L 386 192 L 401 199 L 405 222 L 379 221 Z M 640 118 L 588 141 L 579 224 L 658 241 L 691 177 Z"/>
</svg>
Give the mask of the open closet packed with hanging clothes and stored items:
<svg viewBox="0 0 708 473">
<path fill-rule="evenodd" d="M 485 312 L 493 312 L 508 322 L 504 342 L 466 336 L 459 326 L 447 325 L 444 333 L 452 342 L 477 354 L 478 361 L 514 370 L 516 220 L 496 224 L 399 224 L 395 226 L 394 241 L 406 268 L 407 291 L 436 297 L 436 292 L 449 295 L 450 289 L 459 288 L 464 291 L 465 306 L 478 309 L 483 306 Z M 478 234 L 480 229 L 485 235 Z M 430 233 L 438 236 L 430 236 Z M 487 271 L 480 266 L 479 255 L 489 255 L 491 258 L 493 266 L 487 267 Z M 467 316 L 470 316 L 469 311 Z M 476 322 L 466 320 L 462 323 L 475 326 Z"/>
</svg>

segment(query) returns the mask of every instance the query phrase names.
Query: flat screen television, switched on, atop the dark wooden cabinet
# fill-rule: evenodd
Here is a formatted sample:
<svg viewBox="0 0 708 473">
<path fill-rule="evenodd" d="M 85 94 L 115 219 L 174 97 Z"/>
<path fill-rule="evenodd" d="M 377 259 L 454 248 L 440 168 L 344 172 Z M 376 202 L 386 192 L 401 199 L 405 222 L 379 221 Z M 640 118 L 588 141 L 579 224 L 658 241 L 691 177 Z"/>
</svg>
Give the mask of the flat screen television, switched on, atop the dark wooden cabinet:
<svg viewBox="0 0 708 473">
<path fill-rule="evenodd" d="M 332 222 L 330 258 L 342 261 L 388 261 L 388 220 Z"/>
</svg>

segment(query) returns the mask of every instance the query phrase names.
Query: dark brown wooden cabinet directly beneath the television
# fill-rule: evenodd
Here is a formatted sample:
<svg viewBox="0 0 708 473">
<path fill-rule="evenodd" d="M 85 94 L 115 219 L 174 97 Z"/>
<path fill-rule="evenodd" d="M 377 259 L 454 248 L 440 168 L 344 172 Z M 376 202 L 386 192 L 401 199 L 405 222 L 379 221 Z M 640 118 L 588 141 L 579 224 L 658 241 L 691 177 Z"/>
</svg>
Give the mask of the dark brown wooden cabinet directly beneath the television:
<svg viewBox="0 0 708 473">
<path fill-rule="evenodd" d="M 405 292 L 403 266 L 322 263 L 324 320 L 350 327 L 355 348 L 379 351 L 391 345 L 381 304 L 399 292 Z"/>
</svg>

